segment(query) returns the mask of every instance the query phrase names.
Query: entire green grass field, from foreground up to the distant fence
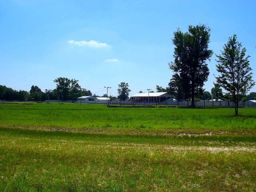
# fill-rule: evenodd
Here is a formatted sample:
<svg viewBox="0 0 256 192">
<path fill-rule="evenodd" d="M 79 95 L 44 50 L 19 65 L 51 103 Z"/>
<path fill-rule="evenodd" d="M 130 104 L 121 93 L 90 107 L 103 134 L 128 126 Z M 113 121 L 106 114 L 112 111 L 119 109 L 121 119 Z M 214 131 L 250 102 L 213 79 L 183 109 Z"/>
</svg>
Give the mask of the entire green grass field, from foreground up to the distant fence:
<svg viewBox="0 0 256 192">
<path fill-rule="evenodd" d="M 256 191 L 256 109 L 0 104 L 0 191 Z"/>
</svg>

